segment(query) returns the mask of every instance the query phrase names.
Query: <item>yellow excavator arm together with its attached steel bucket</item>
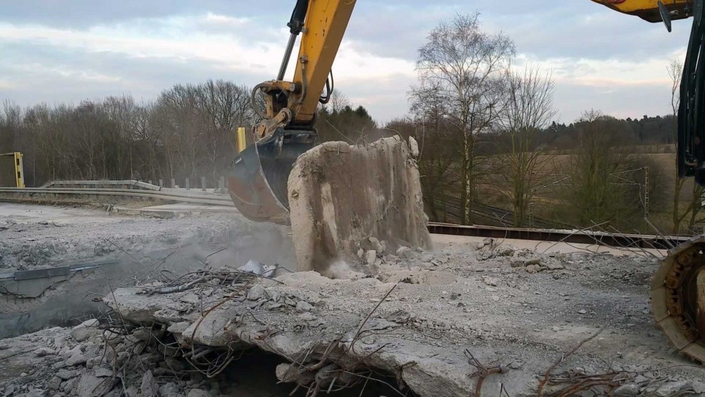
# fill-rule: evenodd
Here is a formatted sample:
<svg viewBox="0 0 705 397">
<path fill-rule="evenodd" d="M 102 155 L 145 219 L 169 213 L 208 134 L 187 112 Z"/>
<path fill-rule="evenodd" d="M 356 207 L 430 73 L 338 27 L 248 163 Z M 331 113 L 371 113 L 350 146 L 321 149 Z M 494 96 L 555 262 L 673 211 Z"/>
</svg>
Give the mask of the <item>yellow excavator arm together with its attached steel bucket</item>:
<svg viewBox="0 0 705 397">
<path fill-rule="evenodd" d="M 330 99 L 331 68 L 354 7 L 355 0 L 297 0 L 277 78 L 252 91 L 262 121 L 253 128 L 254 145 L 235 158 L 228 178 L 235 207 L 250 220 L 289 222 L 288 176 L 300 154 L 316 144 L 316 109 Z M 293 80 L 284 80 L 298 37 Z M 264 109 L 257 106 L 259 93 L 266 98 Z"/>
</svg>

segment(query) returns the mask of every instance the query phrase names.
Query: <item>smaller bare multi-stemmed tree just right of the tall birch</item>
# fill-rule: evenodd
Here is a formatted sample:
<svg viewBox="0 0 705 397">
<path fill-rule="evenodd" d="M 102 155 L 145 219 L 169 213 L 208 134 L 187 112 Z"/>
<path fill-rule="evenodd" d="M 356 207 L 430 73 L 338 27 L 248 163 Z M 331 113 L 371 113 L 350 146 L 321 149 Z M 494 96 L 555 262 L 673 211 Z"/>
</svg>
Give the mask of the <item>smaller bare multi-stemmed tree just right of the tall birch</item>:
<svg viewBox="0 0 705 397">
<path fill-rule="evenodd" d="M 514 226 L 521 227 L 527 224 L 534 189 L 551 160 L 544 145 L 537 145 L 536 138 L 556 115 L 556 84 L 551 73 L 543 75 L 539 68 L 530 65 L 520 72 L 508 71 L 507 82 L 508 101 L 500 123 L 510 147 L 501 148 L 497 157 L 504 183 L 496 187 L 512 203 Z"/>
</svg>

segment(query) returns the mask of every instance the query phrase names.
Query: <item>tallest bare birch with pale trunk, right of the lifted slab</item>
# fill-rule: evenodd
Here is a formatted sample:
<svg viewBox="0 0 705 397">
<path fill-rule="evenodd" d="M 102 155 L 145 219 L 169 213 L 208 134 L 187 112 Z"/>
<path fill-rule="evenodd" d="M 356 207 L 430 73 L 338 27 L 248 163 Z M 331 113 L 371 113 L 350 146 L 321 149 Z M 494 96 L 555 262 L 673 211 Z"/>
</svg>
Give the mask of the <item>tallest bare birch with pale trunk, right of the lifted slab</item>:
<svg viewBox="0 0 705 397">
<path fill-rule="evenodd" d="M 503 33 L 480 29 L 479 14 L 457 15 L 431 30 L 419 49 L 419 85 L 412 97 L 423 100 L 436 90 L 444 102 L 448 133 L 458 150 L 455 169 L 460 176 L 462 223 L 471 222 L 471 207 L 482 162 L 475 156 L 477 137 L 488 130 L 503 110 L 504 71 L 515 55 L 513 42 Z"/>
</svg>

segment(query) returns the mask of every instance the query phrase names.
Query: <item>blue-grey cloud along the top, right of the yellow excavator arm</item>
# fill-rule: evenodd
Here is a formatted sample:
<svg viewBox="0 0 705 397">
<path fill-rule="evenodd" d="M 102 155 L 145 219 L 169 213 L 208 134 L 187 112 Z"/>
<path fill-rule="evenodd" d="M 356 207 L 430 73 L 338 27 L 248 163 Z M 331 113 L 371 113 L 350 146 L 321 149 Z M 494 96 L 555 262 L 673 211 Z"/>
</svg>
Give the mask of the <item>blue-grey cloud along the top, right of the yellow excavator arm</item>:
<svg viewBox="0 0 705 397">
<path fill-rule="evenodd" d="M 348 37 L 361 40 L 360 49 L 374 54 L 415 60 L 418 47 L 439 20 L 452 18 L 456 12 L 478 11 L 485 30 L 502 30 L 516 43 L 517 51 L 529 56 L 639 61 L 683 47 L 690 30 L 689 21 L 678 21 L 669 34 L 661 24 L 646 23 L 589 0 L 558 1 L 550 6 L 494 0 L 412 3 L 416 4 L 360 4 Z"/>
</svg>

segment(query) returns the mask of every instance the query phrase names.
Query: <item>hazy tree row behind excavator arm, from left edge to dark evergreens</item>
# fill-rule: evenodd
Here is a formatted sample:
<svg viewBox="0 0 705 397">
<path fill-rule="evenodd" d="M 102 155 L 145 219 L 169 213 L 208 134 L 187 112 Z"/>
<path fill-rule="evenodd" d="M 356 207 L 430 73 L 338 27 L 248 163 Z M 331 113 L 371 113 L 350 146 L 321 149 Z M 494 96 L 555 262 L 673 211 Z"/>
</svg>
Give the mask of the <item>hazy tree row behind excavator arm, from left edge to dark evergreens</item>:
<svg viewBox="0 0 705 397">
<path fill-rule="evenodd" d="M 142 179 L 214 184 L 237 152 L 236 131 L 259 121 L 250 87 L 222 80 L 174 85 L 153 102 L 130 96 L 70 104 L 0 106 L 0 152 L 25 153 L 25 183 Z M 336 94 L 321 111 L 321 140 L 374 130 L 367 109 Z M 259 104 L 262 105 L 262 104 Z M 336 139 L 340 139 L 337 135 Z"/>
</svg>

